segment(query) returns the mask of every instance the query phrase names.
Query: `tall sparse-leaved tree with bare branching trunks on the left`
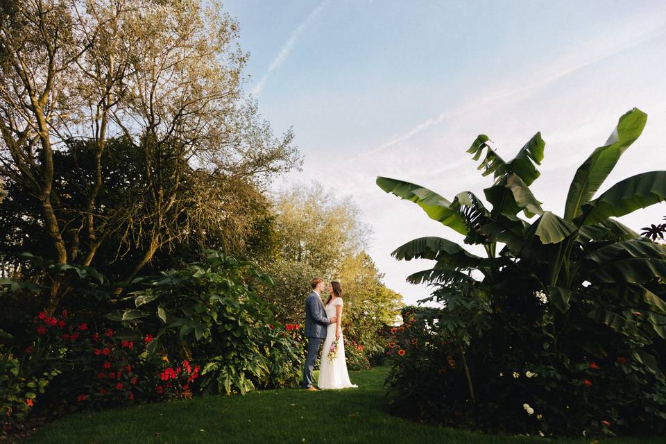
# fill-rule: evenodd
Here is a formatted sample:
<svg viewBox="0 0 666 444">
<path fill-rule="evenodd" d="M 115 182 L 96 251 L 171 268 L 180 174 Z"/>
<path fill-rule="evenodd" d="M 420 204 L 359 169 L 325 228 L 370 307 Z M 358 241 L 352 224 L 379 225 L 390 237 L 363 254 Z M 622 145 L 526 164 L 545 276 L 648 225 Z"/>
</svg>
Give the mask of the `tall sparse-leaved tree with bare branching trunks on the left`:
<svg viewBox="0 0 666 444">
<path fill-rule="evenodd" d="M 126 284 L 206 219 L 228 223 L 230 189 L 261 190 L 298 165 L 291 130 L 275 137 L 244 98 L 247 55 L 216 3 L 22 0 L 1 13 L 0 173 L 38 203 L 57 262 L 94 264 L 121 233 L 140 253 L 123 266 Z M 119 137 L 140 156 L 142 182 L 124 205 L 104 207 L 103 162 Z M 82 143 L 92 152 L 85 204 L 67 207 L 56 157 L 70 153 L 78 168 Z M 57 283 L 52 293 L 56 302 Z"/>
</svg>

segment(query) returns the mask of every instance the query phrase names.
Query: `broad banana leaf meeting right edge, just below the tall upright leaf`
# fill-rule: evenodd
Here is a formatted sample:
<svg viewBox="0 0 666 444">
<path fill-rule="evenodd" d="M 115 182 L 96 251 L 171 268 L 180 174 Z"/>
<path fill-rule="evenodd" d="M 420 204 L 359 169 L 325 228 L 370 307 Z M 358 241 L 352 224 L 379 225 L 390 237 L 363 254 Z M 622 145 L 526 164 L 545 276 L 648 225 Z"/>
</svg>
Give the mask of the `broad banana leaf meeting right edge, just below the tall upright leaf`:
<svg viewBox="0 0 666 444">
<path fill-rule="evenodd" d="M 648 171 L 620 180 L 601 196 L 583 205 L 581 225 L 610 216 L 624 216 L 666 200 L 666 171 Z"/>
</svg>

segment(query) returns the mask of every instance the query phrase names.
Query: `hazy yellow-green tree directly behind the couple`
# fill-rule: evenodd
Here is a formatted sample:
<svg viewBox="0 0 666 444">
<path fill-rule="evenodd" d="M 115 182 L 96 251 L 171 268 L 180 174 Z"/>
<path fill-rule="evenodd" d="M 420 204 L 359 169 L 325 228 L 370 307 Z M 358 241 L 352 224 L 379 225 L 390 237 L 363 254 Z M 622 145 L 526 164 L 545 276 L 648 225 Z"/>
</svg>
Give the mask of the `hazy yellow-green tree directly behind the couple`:
<svg viewBox="0 0 666 444">
<path fill-rule="evenodd" d="M 275 279 L 264 297 L 280 307 L 280 318 L 302 322 L 312 278 L 339 280 L 345 326 L 355 339 L 375 343 L 377 327 L 392 323 L 398 314 L 401 296 L 384 287 L 382 274 L 364 251 L 368 228 L 358 207 L 316 183 L 283 191 L 275 199 L 275 212 L 280 250 L 264 264 Z"/>
</svg>

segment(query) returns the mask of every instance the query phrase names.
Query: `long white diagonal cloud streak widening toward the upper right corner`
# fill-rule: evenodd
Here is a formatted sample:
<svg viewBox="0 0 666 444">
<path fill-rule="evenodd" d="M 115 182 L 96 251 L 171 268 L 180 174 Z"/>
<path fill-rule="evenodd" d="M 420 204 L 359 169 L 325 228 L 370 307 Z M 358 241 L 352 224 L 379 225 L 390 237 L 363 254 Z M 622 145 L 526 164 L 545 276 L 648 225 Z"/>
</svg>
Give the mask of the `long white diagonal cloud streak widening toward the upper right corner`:
<svg viewBox="0 0 666 444">
<path fill-rule="evenodd" d="M 398 135 L 393 139 L 389 139 L 376 148 L 366 152 L 366 154 L 375 154 L 386 148 L 390 148 L 391 146 L 398 145 L 411 139 L 411 137 L 421 133 L 427 128 L 442 123 L 452 117 L 459 117 L 461 114 L 478 109 L 489 103 L 497 102 L 516 94 L 529 92 L 533 89 L 545 87 L 579 69 L 583 69 L 588 65 L 592 65 L 600 60 L 614 56 L 626 49 L 638 46 L 639 44 L 653 40 L 666 33 L 666 22 L 663 17 L 657 16 L 654 17 L 654 19 L 642 21 L 642 24 L 643 25 L 638 28 L 634 23 L 631 23 L 631 26 L 626 26 L 624 30 L 615 32 L 612 38 L 608 38 L 607 35 L 604 35 L 603 37 L 589 40 L 588 42 L 579 45 L 573 51 L 565 53 L 565 55 L 558 58 L 558 60 L 548 63 L 543 69 L 533 71 L 533 75 L 529 78 L 512 79 L 514 85 L 520 86 L 499 89 L 495 92 L 490 92 L 490 94 L 486 94 L 477 100 L 473 100 L 461 108 L 457 108 L 450 112 L 442 112 L 437 117 L 418 123 L 418 125 L 414 126 L 406 133 Z"/>
</svg>

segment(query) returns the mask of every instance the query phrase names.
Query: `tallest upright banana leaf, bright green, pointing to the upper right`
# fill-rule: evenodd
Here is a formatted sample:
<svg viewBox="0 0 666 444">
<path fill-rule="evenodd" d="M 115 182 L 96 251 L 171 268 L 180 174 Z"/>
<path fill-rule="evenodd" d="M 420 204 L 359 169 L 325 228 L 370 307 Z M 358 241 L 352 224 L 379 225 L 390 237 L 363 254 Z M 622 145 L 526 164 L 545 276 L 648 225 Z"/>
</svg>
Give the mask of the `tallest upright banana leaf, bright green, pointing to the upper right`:
<svg viewBox="0 0 666 444">
<path fill-rule="evenodd" d="M 576 171 L 567 194 L 564 219 L 573 221 L 581 213 L 581 206 L 592 200 L 622 153 L 638 139 L 646 121 L 647 114 L 638 108 L 620 117 L 606 144 L 595 149 Z"/>
</svg>

